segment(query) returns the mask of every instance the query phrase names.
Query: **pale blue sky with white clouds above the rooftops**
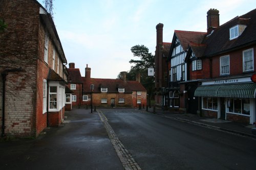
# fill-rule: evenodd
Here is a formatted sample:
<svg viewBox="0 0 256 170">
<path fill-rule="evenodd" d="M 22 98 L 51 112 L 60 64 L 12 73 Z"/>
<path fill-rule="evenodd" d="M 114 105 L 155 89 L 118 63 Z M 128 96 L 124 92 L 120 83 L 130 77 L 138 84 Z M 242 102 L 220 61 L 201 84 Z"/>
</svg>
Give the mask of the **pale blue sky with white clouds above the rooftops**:
<svg viewBox="0 0 256 170">
<path fill-rule="evenodd" d="M 38 1 L 42 4 L 42 0 Z M 163 41 L 174 30 L 206 32 L 206 13 L 220 11 L 220 25 L 256 8 L 255 0 L 54 0 L 54 22 L 68 63 L 84 76 L 117 78 L 135 59 L 131 47 L 145 45 L 155 55 L 156 25 L 163 23 Z M 44 4 L 42 4 L 44 6 Z"/>
</svg>

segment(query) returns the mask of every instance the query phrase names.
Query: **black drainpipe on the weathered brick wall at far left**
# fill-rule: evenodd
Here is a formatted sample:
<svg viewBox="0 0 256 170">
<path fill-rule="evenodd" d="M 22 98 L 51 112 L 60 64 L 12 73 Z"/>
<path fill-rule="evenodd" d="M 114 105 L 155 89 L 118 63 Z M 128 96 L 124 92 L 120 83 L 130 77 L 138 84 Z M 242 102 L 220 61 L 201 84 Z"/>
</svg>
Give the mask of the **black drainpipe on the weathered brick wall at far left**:
<svg viewBox="0 0 256 170">
<path fill-rule="evenodd" d="M 6 83 L 6 77 L 8 75 L 8 72 L 15 72 L 15 71 L 21 71 L 22 68 L 16 68 L 16 69 L 6 69 L 3 71 L 2 75 L 2 79 L 3 79 L 3 103 L 2 103 L 2 137 L 5 137 L 5 83 Z"/>
</svg>

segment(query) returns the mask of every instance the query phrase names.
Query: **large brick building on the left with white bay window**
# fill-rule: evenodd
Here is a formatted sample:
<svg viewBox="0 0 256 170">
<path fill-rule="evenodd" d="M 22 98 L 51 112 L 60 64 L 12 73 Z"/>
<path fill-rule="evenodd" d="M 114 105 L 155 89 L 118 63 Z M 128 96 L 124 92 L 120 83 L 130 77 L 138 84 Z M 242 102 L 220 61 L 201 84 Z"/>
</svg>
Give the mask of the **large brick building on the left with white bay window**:
<svg viewBox="0 0 256 170">
<path fill-rule="evenodd" d="M 67 63 L 54 22 L 37 1 L 0 1 L 2 136 L 37 136 L 64 116 Z"/>
</svg>

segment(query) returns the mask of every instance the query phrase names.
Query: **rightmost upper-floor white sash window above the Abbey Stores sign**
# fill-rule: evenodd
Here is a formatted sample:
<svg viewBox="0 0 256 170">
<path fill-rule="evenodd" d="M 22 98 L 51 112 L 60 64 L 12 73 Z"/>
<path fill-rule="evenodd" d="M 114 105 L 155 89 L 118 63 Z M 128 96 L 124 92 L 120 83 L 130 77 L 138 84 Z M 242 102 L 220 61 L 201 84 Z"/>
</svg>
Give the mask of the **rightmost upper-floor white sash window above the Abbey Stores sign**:
<svg viewBox="0 0 256 170">
<path fill-rule="evenodd" d="M 253 48 L 243 51 L 243 71 L 254 70 Z"/>
</svg>

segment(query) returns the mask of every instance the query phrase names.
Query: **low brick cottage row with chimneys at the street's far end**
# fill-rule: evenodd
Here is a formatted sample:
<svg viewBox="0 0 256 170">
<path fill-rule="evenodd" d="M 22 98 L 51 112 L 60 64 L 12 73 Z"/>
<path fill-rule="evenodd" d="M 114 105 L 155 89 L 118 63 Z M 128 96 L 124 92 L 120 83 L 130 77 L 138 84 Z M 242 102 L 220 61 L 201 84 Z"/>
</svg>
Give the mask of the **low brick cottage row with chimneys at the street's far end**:
<svg viewBox="0 0 256 170">
<path fill-rule="evenodd" d="M 72 74 L 72 71 L 76 72 Z M 93 106 L 97 107 L 139 107 L 146 106 L 146 89 L 140 83 L 140 76 L 137 81 L 126 81 L 125 74 L 123 79 L 96 79 L 91 78 L 91 68 L 86 67 L 85 77 L 81 77 L 78 68 L 74 63 L 70 63 L 68 86 L 75 84 L 76 88 L 73 95 L 76 101 L 72 102 L 75 106 L 91 106 L 91 94 L 93 92 Z M 82 85 L 80 84 L 82 81 Z M 94 85 L 93 91 L 91 85 Z M 74 86 L 74 85 L 73 85 Z M 80 98 L 78 102 L 78 98 Z"/>
</svg>

